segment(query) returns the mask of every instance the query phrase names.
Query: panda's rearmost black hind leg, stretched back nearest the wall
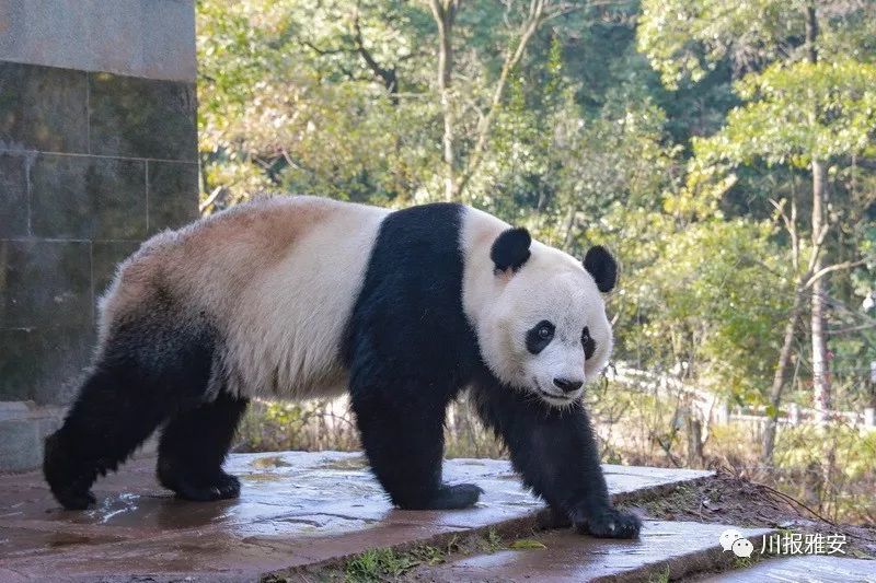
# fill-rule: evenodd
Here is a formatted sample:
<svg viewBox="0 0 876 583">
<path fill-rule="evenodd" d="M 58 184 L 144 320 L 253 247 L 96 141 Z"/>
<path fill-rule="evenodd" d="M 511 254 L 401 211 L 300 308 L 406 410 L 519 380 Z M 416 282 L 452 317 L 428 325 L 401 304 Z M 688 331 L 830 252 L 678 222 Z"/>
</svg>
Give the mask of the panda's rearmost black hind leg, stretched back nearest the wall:
<svg viewBox="0 0 876 583">
<path fill-rule="evenodd" d="M 160 324 L 130 323 L 114 331 L 64 424 L 46 439 L 43 473 L 65 508 L 88 508 L 99 475 L 115 470 L 172 415 L 203 401 L 211 331 Z"/>
</svg>

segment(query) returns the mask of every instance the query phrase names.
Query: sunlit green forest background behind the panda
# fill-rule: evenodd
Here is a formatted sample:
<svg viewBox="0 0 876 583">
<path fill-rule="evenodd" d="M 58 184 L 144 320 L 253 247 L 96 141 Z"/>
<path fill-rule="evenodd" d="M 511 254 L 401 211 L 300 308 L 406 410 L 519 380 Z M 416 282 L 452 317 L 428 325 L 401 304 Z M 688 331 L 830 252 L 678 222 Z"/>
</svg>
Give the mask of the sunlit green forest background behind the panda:
<svg viewBox="0 0 876 583">
<path fill-rule="evenodd" d="M 876 522 L 876 2 L 199 0 L 198 59 L 203 213 L 454 200 L 607 245 L 614 360 L 753 415 L 611 377 L 587 397 L 603 458 Z M 503 455 L 464 404 L 448 425 L 450 455 Z M 355 448 L 351 427 L 258 404 L 239 448 Z"/>
</svg>

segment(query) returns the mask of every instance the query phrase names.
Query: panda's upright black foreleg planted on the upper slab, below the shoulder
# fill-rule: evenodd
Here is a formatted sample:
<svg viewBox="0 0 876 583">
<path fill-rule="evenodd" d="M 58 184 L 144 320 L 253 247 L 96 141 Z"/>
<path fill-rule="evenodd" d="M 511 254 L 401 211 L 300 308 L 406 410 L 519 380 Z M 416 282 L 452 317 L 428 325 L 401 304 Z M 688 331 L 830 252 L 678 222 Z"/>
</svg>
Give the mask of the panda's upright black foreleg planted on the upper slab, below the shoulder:
<svg viewBox="0 0 876 583">
<path fill-rule="evenodd" d="M 350 395 L 362 446 L 393 504 L 406 510 L 474 505 L 481 488 L 441 481 L 447 398 L 425 381 L 360 384 L 356 376 Z"/>
</svg>

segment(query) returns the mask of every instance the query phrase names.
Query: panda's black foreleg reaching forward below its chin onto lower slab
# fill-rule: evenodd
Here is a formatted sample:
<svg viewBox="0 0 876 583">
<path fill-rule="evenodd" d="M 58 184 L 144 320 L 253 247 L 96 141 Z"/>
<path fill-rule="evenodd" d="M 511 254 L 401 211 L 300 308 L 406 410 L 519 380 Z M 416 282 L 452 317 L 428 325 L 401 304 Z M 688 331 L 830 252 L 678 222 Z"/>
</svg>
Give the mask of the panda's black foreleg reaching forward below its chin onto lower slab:
<svg viewBox="0 0 876 583">
<path fill-rule="evenodd" d="M 599 453 L 586 411 L 557 409 L 497 383 L 472 388 L 484 422 L 506 443 L 523 483 L 579 533 L 635 538 L 638 516 L 615 510 L 609 499 Z"/>
</svg>

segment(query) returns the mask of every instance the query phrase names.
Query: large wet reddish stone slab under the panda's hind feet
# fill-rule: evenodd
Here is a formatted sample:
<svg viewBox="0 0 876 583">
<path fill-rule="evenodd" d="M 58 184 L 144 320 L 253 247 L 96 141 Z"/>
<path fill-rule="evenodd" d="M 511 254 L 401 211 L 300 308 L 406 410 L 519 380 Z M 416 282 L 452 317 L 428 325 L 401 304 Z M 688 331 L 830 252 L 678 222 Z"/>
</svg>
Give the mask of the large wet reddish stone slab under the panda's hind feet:
<svg viewBox="0 0 876 583">
<path fill-rule="evenodd" d="M 711 473 L 606 466 L 616 495 L 657 492 Z M 154 458 L 125 465 L 95 485 L 96 508 L 62 510 L 36 473 L 0 476 L 0 581 L 194 581 L 255 579 L 369 548 L 428 541 L 515 520 L 543 504 L 522 489 L 507 462 L 453 459 L 449 482 L 485 490 L 465 511 L 393 509 L 357 453 L 235 454 L 240 499 L 175 500 L 154 480 Z"/>
</svg>

